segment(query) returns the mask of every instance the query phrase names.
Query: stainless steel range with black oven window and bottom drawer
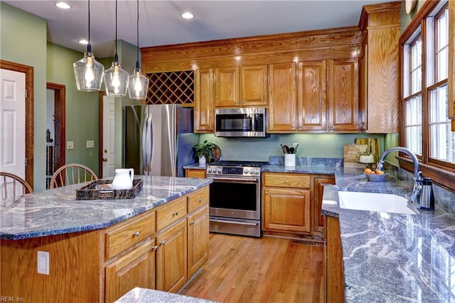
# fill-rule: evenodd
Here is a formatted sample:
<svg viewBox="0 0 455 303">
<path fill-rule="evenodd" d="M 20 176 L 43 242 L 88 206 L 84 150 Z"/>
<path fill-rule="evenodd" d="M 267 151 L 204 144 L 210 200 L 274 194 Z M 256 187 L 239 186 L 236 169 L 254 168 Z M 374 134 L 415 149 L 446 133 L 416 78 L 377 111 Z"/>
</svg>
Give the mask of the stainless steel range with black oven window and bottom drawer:
<svg viewBox="0 0 455 303">
<path fill-rule="evenodd" d="M 210 231 L 261 236 L 261 167 L 268 162 L 218 161 L 207 165 Z"/>
</svg>

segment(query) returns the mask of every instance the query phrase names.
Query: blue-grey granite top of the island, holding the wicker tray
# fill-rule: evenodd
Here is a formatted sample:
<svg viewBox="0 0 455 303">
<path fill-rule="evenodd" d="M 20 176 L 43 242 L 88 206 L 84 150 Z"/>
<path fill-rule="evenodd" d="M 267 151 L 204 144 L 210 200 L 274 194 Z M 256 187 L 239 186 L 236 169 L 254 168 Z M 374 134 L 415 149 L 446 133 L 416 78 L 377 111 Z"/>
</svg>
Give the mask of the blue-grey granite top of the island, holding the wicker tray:
<svg viewBox="0 0 455 303">
<path fill-rule="evenodd" d="M 136 175 L 144 184 L 134 199 L 77 200 L 87 183 L 0 201 L 0 238 L 19 240 L 106 228 L 210 184 L 210 179 Z"/>
</svg>

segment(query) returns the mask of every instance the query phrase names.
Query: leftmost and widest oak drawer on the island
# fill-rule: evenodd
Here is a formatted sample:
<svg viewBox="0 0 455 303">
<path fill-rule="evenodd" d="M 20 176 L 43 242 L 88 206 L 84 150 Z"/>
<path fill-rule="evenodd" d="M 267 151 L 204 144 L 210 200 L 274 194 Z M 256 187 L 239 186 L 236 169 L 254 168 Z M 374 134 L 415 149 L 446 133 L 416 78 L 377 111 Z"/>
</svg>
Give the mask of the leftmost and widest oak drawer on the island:
<svg viewBox="0 0 455 303">
<path fill-rule="evenodd" d="M 155 214 L 150 211 L 117 225 L 105 233 L 107 259 L 151 236 L 155 232 Z"/>
</svg>

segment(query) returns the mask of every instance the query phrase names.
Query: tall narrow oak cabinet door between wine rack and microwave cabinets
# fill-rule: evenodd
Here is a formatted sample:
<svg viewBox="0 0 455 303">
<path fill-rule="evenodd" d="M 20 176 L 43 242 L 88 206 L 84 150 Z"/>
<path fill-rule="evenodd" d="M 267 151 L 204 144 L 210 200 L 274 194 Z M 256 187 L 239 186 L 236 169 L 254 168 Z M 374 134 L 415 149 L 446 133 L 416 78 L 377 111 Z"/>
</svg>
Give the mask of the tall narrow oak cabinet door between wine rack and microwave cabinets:
<svg viewBox="0 0 455 303">
<path fill-rule="evenodd" d="M 194 79 L 194 132 L 213 133 L 215 106 L 213 68 L 196 70 Z"/>
</svg>

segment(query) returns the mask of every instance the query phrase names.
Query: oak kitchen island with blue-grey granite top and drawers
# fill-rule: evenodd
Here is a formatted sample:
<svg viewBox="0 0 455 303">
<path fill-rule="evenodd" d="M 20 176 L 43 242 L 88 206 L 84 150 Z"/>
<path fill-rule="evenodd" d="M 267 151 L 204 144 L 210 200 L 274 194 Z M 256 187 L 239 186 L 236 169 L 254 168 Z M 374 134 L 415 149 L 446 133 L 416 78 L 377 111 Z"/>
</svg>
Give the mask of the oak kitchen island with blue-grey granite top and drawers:
<svg viewBox="0 0 455 303">
<path fill-rule="evenodd" d="M 134 199 L 76 200 L 75 184 L 0 202 L 1 296 L 112 302 L 132 285 L 182 287 L 208 258 L 212 180 L 135 178 Z"/>
</svg>

